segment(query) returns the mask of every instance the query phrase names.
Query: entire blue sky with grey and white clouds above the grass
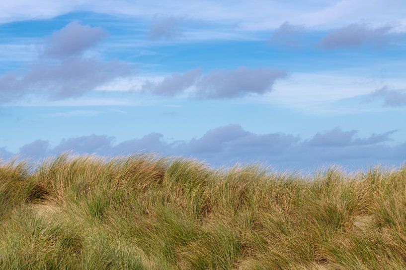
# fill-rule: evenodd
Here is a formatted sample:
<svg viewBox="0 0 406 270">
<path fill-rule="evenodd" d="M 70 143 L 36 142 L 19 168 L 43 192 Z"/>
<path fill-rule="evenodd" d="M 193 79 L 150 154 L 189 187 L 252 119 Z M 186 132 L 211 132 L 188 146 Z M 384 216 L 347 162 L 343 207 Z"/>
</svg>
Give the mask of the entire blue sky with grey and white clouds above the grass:
<svg viewBox="0 0 406 270">
<path fill-rule="evenodd" d="M 404 0 L 0 3 L 0 159 L 406 161 Z"/>
</svg>

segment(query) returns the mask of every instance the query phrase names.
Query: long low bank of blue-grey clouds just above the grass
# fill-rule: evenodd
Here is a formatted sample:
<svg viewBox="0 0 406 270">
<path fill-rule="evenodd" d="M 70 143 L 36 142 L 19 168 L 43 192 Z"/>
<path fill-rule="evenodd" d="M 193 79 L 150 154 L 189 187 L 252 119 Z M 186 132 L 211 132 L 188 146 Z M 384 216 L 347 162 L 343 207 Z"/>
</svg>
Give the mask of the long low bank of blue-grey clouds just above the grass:
<svg viewBox="0 0 406 270">
<path fill-rule="evenodd" d="M 230 124 L 207 131 L 200 138 L 169 142 L 160 133 L 150 133 L 115 143 L 115 137 L 89 135 L 63 139 L 50 147 L 47 141 L 37 140 L 22 146 L 22 157 L 45 157 L 66 151 L 78 154 L 98 154 L 107 157 L 154 152 L 165 156 L 192 157 L 213 165 L 232 165 L 235 162 L 263 162 L 276 168 L 312 168 L 315 165 L 341 164 L 358 168 L 381 162 L 400 164 L 406 143 L 389 145 L 395 131 L 356 136 L 357 131 L 334 128 L 318 132 L 309 139 L 284 133 L 256 134 L 240 125 Z M 0 148 L 3 158 L 11 153 Z"/>
</svg>

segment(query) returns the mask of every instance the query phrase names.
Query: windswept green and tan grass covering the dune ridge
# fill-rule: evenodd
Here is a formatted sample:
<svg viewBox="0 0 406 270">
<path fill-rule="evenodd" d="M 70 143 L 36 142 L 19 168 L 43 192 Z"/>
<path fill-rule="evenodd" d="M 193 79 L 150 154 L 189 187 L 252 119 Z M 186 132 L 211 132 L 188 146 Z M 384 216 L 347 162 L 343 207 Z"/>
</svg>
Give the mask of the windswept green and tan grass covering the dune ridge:
<svg viewBox="0 0 406 270">
<path fill-rule="evenodd" d="M 406 269 L 406 167 L 312 179 L 145 156 L 3 164 L 0 269 Z"/>
</svg>

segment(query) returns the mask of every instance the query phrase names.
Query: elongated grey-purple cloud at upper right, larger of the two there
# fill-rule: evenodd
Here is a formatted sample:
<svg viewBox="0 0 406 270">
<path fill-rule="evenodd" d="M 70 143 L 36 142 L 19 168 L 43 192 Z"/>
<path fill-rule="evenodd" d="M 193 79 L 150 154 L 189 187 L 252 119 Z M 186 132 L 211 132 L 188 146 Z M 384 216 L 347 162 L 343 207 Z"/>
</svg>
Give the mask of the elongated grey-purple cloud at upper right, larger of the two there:
<svg viewBox="0 0 406 270">
<path fill-rule="evenodd" d="M 320 45 L 327 50 L 370 45 L 375 49 L 384 47 L 395 40 L 392 26 L 371 28 L 365 24 L 350 24 L 328 33 Z"/>
</svg>

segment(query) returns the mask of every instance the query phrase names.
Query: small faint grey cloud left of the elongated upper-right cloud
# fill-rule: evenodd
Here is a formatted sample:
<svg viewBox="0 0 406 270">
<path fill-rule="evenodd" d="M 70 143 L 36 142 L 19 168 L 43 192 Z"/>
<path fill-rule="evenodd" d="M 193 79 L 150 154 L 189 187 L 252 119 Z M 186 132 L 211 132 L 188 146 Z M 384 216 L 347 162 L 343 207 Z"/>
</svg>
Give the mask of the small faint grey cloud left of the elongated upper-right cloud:
<svg viewBox="0 0 406 270">
<path fill-rule="evenodd" d="M 300 45 L 299 38 L 303 35 L 304 31 L 305 28 L 303 26 L 293 25 L 286 21 L 273 31 L 269 43 L 297 47 Z"/>
</svg>

